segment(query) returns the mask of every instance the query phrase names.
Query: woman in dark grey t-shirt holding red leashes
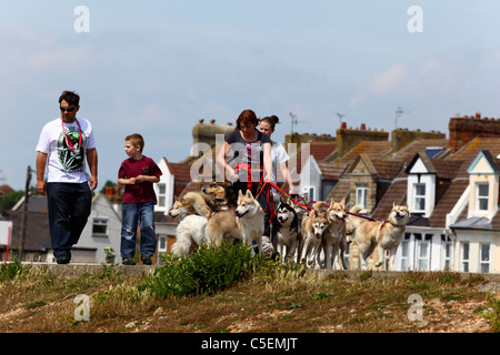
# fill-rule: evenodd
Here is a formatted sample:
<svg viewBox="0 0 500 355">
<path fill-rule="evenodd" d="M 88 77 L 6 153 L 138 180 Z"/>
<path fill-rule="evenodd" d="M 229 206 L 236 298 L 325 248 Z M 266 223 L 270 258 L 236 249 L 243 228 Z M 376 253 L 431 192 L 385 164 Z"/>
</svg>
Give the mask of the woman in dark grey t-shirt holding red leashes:
<svg viewBox="0 0 500 355">
<path fill-rule="evenodd" d="M 259 201 L 266 213 L 263 235 L 270 235 L 269 217 L 271 206 L 268 206 L 269 185 L 272 180 L 271 139 L 257 130 L 259 120 L 252 110 L 244 110 L 237 120 L 237 128 L 226 138 L 222 149 L 217 155 L 219 171 L 232 182 L 236 195 L 247 190 Z M 233 155 L 231 155 L 231 153 Z M 232 156 L 230 163 L 226 158 Z M 261 186 L 264 186 L 261 189 Z"/>
</svg>

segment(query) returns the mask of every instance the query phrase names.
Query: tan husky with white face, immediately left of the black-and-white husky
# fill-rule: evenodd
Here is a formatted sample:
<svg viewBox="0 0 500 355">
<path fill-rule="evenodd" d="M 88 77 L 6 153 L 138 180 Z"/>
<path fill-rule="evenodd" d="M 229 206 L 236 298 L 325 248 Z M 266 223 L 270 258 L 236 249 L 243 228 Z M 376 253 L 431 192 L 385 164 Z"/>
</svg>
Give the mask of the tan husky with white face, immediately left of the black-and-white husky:
<svg viewBox="0 0 500 355">
<path fill-rule="evenodd" d="M 207 222 L 207 237 L 210 243 L 219 246 L 223 239 L 241 240 L 246 244 L 256 241 L 259 251 L 262 250 L 262 232 L 264 213 L 251 191 L 238 194 L 236 209 L 212 213 Z"/>
</svg>

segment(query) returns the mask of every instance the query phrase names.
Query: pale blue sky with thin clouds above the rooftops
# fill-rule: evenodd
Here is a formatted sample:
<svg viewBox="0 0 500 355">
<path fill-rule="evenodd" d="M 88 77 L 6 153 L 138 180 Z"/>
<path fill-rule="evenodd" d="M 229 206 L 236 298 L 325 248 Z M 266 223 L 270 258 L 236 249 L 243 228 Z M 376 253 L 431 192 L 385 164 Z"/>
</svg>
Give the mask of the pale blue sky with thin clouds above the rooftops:
<svg viewBox="0 0 500 355">
<path fill-rule="evenodd" d="M 448 136 L 457 114 L 500 116 L 498 13 L 498 0 L 0 0 L 0 184 L 24 189 L 63 90 L 94 128 L 98 190 L 118 180 L 124 136 L 179 162 L 199 119 L 246 109 L 280 118 L 276 141 L 290 112 L 299 133 L 334 135 L 341 113 Z"/>
</svg>

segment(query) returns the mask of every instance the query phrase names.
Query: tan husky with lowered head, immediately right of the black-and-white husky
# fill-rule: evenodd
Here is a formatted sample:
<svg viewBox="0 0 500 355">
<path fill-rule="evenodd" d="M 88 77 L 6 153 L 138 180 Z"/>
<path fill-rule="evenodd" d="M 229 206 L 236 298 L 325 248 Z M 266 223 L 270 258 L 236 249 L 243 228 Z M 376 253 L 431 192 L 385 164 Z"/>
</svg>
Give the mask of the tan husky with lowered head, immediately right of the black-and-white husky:
<svg viewBox="0 0 500 355">
<path fill-rule="evenodd" d="M 302 242 L 299 247 L 300 262 L 304 260 L 306 265 L 320 267 L 321 244 L 329 223 L 327 213 L 320 212 L 323 202 L 317 202 L 314 209 L 302 220 Z"/>
</svg>

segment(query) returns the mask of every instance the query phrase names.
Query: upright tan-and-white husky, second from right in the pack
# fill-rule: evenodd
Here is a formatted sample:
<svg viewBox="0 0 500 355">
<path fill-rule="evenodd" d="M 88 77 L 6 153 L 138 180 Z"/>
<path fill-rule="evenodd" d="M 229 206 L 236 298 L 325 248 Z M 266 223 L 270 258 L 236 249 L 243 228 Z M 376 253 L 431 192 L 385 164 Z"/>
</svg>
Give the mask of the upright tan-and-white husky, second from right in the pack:
<svg viewBox="0 0 500 355">
<path fill-rule="evenodd" d="M 327 210 L 328 229 L 324 232 L 323 253 L 324 267 L 333 268 L 333 264 L 340 250 L 340 260 L 343 268 L 347 267 L 344 252 L 347 247 L 346 242 L 346 199 L 336 202 L 331 199 L 331 204 Z M 344 247 L 341 247 L 344 246 Z M 331 247 L 331 252 L 330 252 Z"/>
</svg>

